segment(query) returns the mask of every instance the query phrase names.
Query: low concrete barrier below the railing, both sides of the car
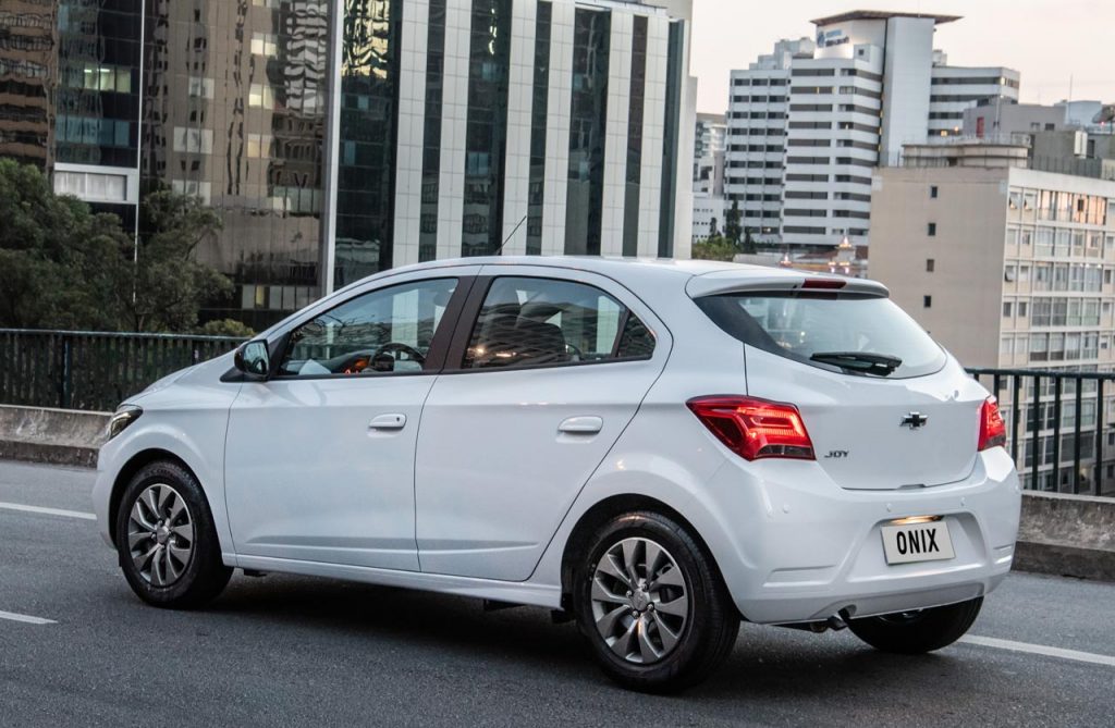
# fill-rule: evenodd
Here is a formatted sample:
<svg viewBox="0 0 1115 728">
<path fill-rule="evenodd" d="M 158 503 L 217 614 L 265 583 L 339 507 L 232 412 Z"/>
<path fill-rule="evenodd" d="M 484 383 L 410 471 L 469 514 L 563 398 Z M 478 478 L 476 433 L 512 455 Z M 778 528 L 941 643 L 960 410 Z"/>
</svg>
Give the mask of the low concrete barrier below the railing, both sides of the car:
<svg viewBox="0 0 1115 728">
<path fill-rule="evenodd" d="M 0 406 L 0 458 L 96 467 L 110 416 Z M 1115 498 L 1026 492 L 1015 569 L 1115 581 Z"/>
</svg>

